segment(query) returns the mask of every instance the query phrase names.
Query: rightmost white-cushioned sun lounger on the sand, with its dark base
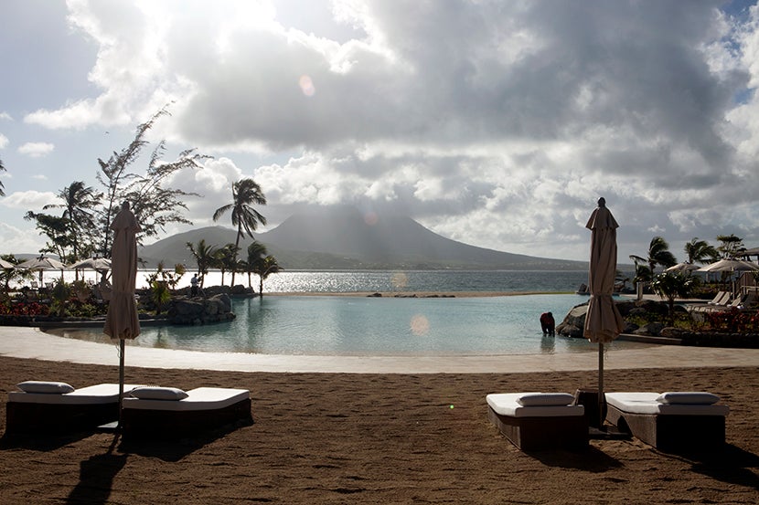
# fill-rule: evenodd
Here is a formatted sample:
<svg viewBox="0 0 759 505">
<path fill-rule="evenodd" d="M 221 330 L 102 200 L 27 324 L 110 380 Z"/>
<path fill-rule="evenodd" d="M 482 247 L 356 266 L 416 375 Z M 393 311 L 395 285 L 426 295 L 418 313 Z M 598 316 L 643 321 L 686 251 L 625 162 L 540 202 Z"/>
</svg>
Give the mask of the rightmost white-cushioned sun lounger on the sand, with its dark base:
<svg viewBox="0 0 759 505">
<path fill-rule="evenodd" d="M 606 393 L 606 420 L 661 450 L 719 447 L 727 405 L 710 393 Z"/>
</svg>

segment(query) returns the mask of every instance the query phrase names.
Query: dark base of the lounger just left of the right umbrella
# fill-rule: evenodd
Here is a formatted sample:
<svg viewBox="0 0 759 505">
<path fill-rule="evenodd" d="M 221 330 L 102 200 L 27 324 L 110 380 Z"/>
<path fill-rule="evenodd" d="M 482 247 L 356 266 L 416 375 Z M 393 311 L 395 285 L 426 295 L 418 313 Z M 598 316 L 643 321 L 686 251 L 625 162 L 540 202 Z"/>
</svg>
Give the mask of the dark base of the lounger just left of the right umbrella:
<svg viewBox="0 0 759 505">
<path fill-rule="evenodd" d="M 524 451 L 556 448 L 582 450 L 588 447 L 588 422 L 584 416 L 501 416 L 489 405 L 487 416 L 504 437 Z"/>
</svg>

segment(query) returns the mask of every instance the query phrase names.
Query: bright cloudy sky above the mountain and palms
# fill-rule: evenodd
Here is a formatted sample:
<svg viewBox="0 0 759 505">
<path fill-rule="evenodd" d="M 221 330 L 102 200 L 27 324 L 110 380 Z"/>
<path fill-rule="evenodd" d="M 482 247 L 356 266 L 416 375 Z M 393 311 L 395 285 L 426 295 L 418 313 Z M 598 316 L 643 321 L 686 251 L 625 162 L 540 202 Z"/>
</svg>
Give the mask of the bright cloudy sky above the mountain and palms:
<svg viewBox="0 0 759 505">
<path fill-rule="evenodd" d="M 587 260 L 600 196 L 618 260 L 665 237 L 759 246 L 759 8 L 670 0 L 3 0 L 0 253 L 27 211 L 150 131 L 194 227 L 251 177 L 265 231 L 313 205 Z M 188 226 L 169 226 L 167 237 Z"/>
</svg>

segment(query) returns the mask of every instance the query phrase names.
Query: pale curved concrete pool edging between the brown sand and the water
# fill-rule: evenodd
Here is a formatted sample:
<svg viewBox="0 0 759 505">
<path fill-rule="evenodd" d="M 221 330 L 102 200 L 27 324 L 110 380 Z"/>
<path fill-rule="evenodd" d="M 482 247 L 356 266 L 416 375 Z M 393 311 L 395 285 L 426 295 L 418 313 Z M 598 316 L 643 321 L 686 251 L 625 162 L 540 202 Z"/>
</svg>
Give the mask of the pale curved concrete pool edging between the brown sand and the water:
<svg viewBox="0 0 759 505">
<path fill-rule="evenodd" d="M 50 335 L 37 328 L 0 327 L 0 355 L 117 366 L 113 344 Z M 301 356 L 198 352 L 127 346 L 126 366 L 276 373 L 529 373 L 598 369 L 598 352 L 486 356 Z M 604 353 L 604 369 L 757 366 L 759 349 L 650 345 Z"/>
</svg>

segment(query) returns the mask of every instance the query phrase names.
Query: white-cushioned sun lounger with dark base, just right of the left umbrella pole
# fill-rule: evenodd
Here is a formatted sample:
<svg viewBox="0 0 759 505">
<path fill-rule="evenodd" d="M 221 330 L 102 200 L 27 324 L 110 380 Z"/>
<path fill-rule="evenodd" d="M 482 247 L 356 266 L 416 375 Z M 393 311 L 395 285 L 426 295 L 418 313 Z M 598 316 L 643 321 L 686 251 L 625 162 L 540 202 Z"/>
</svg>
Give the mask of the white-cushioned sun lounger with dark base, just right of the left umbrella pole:
<svg viewBox="0 0 759 505">
<path fill-rule="evenodd" d="M 239 421 L 252 421 L 247 389 L 138 388 L 123 399 L 124 437 L 191 437 Z"/>
</svg>

